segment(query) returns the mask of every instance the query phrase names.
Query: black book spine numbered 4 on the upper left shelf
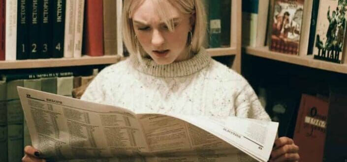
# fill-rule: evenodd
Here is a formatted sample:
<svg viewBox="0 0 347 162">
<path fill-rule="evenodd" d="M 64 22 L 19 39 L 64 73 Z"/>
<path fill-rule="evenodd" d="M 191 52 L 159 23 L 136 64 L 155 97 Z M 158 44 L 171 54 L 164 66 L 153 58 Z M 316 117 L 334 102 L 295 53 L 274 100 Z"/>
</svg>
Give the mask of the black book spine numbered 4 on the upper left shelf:
<svg viewBox="0 0 347 162">
<path fill-rule="evenodd" d="M 64 52 L 66 0 L 54 0 L 53 5 L 53 49 L 52 57 L 61 58 Z"/>
</svg>

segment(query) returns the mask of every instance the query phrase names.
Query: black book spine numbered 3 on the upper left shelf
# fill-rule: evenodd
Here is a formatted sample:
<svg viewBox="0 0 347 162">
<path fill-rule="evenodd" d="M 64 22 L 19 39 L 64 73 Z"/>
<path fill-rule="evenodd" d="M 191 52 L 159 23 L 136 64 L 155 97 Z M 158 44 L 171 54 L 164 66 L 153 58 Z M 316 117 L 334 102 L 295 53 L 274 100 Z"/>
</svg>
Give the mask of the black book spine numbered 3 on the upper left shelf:
<svg viewBox="0 0 347 162">
<path fill-rule="evenodd" d="M 41 54 L 40 58 L 50 58 L 52 57 L 52 31 L 53 31 L 53 0 L 42 0 L 40 5 L 40 48 Z"/>
</svg>

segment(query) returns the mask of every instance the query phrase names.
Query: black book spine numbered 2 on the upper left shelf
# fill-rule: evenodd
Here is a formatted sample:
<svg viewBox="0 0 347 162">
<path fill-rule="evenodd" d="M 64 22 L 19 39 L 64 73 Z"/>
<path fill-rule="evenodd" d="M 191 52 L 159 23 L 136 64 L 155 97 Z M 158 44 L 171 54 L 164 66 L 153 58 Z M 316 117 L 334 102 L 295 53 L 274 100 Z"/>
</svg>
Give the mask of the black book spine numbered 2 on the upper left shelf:
<svg viewBox="0 0 347 162">
<path fill-rule="evenodd" d="M 40 46 L 40 17 L 41 12 L 40 4 L 41 0 L 31 0 L 30 5 L 30 27 L 29 27 L 29 58 L 36 59 L 41 55 L 41 46 Z"/>
</svg>

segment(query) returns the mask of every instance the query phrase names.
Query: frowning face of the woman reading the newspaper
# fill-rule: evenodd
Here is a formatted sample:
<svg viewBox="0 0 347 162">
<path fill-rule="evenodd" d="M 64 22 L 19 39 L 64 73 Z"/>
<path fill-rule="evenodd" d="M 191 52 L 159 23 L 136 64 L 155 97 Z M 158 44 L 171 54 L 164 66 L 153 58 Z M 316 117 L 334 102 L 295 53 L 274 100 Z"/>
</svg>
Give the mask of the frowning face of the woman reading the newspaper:
<svg viewBox="0 0 347 162">
<path fill-rule="evenodd" d="M 156 5 L 151 0 L 145 0 L 132 16 L 138 41 L 145 52 L 160 65 L 189 58 L 186 44 L 191 30 L 190 15 L 180 13 L 172 5 L 167 9 L 172 13 L 167 19 L 173 20 L 173 31 L 169 31 L 163 20 L 160 20 Z"/>
</svg>

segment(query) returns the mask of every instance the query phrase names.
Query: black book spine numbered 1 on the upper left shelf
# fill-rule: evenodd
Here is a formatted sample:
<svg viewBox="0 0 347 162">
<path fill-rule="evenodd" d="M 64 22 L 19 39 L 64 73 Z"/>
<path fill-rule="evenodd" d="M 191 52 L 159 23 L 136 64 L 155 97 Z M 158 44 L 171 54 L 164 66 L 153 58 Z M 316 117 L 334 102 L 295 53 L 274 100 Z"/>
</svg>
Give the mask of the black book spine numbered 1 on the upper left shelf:
<svg viewBox="0 0 347 162">
<path fill-rule="evenodd" d="M 17 60 L 27 59 L 29 54 L 28 49 L 28 15 L 29 15 L 29 1 L 18 0 L 17 6 Z"/>
</svg>

